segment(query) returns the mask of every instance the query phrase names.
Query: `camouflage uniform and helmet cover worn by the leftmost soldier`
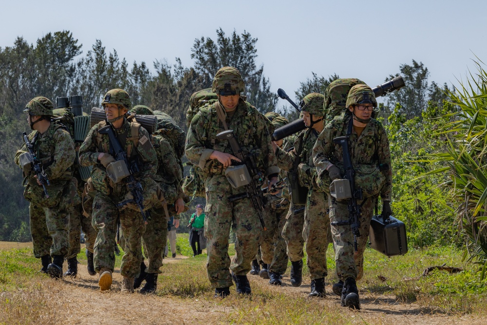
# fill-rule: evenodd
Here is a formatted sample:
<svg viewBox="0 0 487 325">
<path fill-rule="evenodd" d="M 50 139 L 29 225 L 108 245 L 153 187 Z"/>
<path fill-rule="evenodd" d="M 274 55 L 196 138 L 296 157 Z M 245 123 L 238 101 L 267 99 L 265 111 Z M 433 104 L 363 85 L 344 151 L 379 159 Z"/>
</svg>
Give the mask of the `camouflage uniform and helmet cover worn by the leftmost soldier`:
<svg viewBox="0 0 487 325">
<path fill-rule="evenodd" d="M 33 107 L 35 101 L 42 101 L 41 98 L 49 101 L 45 97 L 36 97 L 27 104 L 24 112 L 29 112 L 29 107 Z M 52 115 L 52 102 L 49 103 Z M 75 160 L 74 142 L 66 130 L 53 122 L 43 134 L 33 131 L 28 138 L 51 184 L 47 186 L 50 198 L 46 198 L 42 186 L 37 185 L 37 179 L 34 177 L 36 173 L 31 170 L 24 174 L 24 197 L 30 202 L 29 216 L 34 256 L 66 256 L 70 247 L 68 209 L 71 202 L 68 191 L 73 181 L 71 165 Z M 26 152 L 27 148 L 23 144 L 15 154 L 15 163 L 19 166 L 20 155 Z"/>
</svg>

